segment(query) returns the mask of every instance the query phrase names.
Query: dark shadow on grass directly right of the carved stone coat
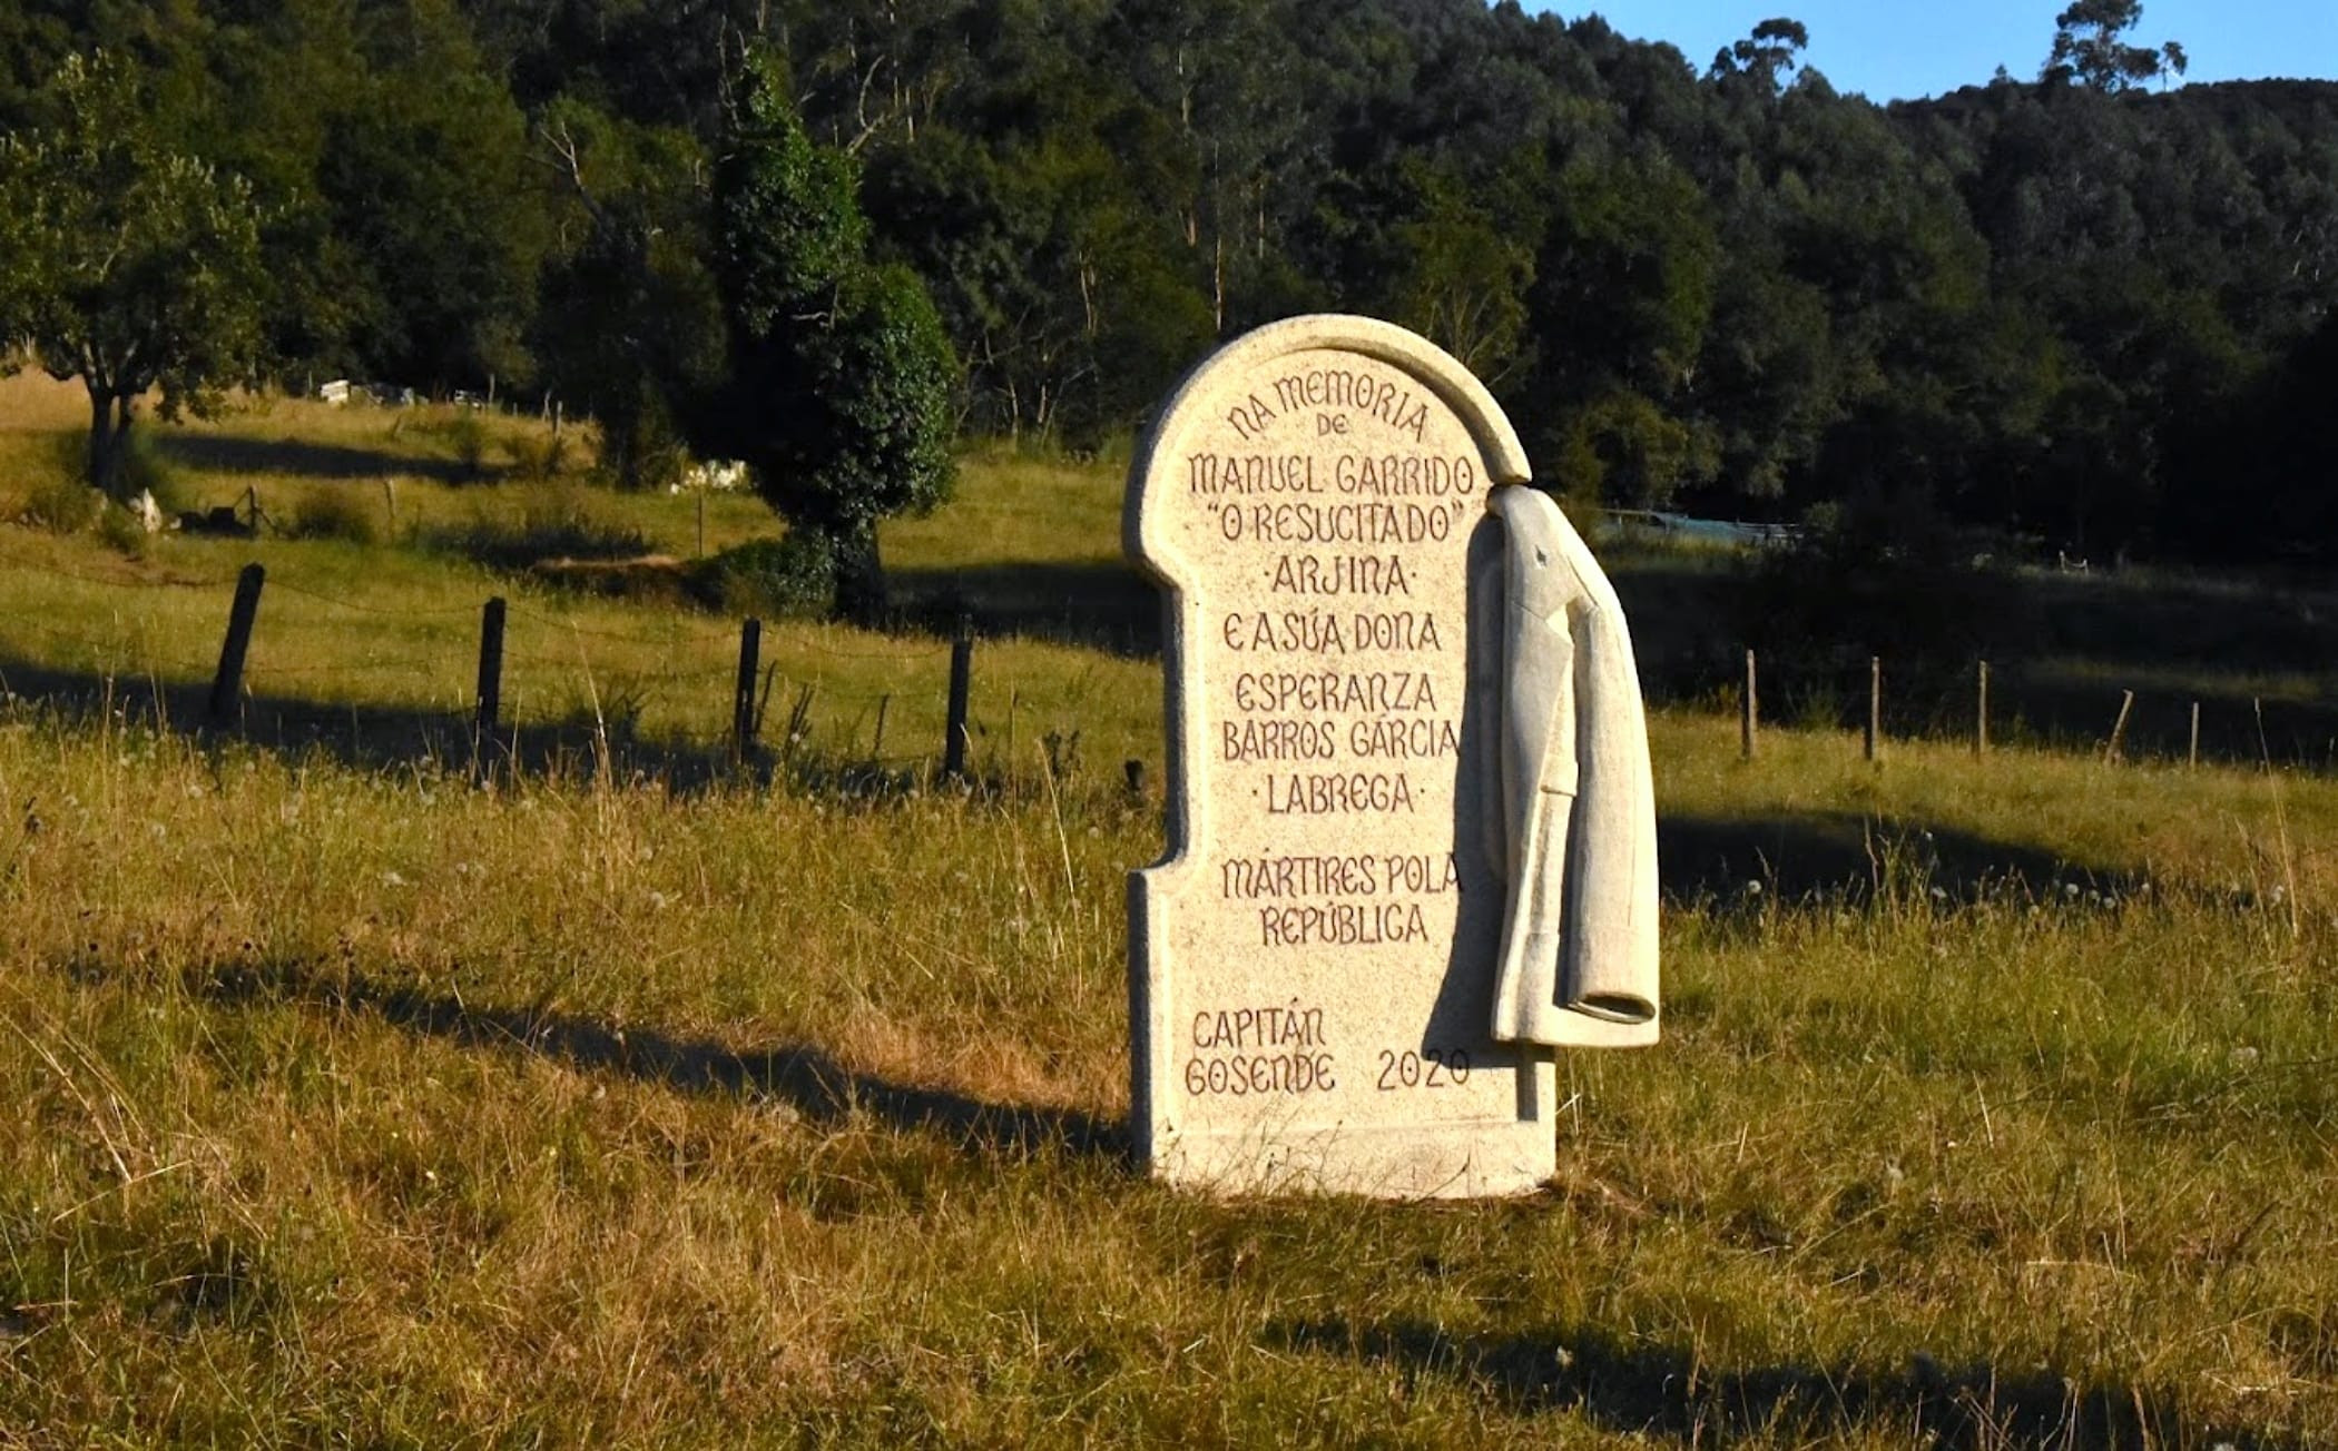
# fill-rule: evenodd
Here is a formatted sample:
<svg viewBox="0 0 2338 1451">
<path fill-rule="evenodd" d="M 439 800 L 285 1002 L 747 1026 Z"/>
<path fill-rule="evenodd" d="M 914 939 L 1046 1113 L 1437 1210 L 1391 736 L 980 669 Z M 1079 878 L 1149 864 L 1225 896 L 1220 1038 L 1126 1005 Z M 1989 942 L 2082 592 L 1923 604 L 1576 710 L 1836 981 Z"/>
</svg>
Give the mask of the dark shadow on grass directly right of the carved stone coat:
<svg viewBox="0 0 2338 1451">
<path fill-rule="evenodd" d="M 1655 843 L 1662 888 L 1683 902 L 1728 897 L 1749 881 L 1784 902 L 1934 888 L 1952 902 L 1973 902 L 1992 890 L 2041 893 L 2060 883 L 2125 895 L 2137 883 L 2135 872 L 2039 846 L 1854 811 L 1660 815 Z"/>
</svg>

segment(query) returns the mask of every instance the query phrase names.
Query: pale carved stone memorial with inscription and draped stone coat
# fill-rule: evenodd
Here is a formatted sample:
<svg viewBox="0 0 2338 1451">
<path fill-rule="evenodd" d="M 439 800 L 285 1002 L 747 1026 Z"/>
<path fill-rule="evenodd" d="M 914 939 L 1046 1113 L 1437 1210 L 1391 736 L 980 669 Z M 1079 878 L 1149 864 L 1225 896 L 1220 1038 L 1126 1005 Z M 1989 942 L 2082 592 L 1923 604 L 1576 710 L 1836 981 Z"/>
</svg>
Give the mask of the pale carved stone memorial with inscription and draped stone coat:
<svg viewBox="0 0 2338 1451">
<path fill-rule="evenodd" d="M 1129 881 L 1132 1119 L 1227 1194 L 1517 1194 L 1564 1047 L 1658 1035 L 1616 591 L 1501 409 L 1370 318 L 1197 367 L 1139 449 L 1169 855 Z"/>
</svg>

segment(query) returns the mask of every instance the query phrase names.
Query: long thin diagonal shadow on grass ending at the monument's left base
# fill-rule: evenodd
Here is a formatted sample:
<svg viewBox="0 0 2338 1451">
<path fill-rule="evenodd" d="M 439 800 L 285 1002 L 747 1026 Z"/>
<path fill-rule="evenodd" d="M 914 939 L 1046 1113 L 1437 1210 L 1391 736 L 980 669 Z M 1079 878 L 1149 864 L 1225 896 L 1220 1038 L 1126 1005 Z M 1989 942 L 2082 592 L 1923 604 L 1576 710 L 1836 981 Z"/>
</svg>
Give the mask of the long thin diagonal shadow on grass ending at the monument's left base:
<svg viewBox="0 0 2338 1451">
<path fill-rule="evenodd" d="M 893 1129 L 940 1133 L 968 1152 L 1036 1157 L 1059 1150 L 1129 1161 L 1129 1140 L 1118 1122 L 1066 1108 L 987 1103 L 954 1089 L 898 1084 L 844 1068 L 809 1044 L 734 1049 L 655 1028 L 617 1030 L 575 1014 L 484 1007 L 299 963 L 222 970 L 208 995 L 227 1005 L 290 1002 L 369 1014 L 421 1037 L 620 1072 L 680 1094 L 776 1101 L 816 1124 L 865 1112 Z"/>
</svg>

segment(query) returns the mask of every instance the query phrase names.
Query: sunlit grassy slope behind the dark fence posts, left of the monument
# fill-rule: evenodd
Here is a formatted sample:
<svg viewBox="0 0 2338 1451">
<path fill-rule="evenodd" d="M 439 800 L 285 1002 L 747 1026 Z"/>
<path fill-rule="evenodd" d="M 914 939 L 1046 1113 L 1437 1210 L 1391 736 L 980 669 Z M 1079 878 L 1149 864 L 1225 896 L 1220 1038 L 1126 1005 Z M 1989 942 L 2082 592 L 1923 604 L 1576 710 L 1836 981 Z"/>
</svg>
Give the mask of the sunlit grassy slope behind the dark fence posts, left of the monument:
<svg viewBox="0 0 2338 1451">
<path fill-rule="evenodd" d="M 0 519 L 21 514 L 54 479 L 58 456 L 70 456 L 79 407 L 75 388 L 37 376 L 0 383 Z M 0 678 L 44 699 L 131 699 L 133 713 L 150 713 L 161 696 L 166 710 L 192 720 L 217 664 L 236 572 L 260 561 L 269 584 L 245 675 L 245 727 L 260 738 L 313 743 L 367 764 L 468 755 L 479 610 L 489 596 L 505 596 L 503 699 L 524 759 L 584 750 L 601 734 L 634 764 L 722 755 L 736 617 L 496 572 L 472 547 L 519 544 L 552 519 L 556 537 L 636 537 L 645 554 L 690 558 L 697 500 L 587 488 L 575 470 L 454 484 L 458 465 L 444 432 L 456 418 L 451 409 L 271 400 L 215 425 L 164 430 L 152 451 L 187 507 L 229 505 L 253 491 L 269 519 L 290 523 L 306 498 L 337 495 L 360 516 L 372 509 L 376 535 L 388 540 L 381 491 L 390 481 L 395 540 L 409 547 L 281 537 L 269 528 L 257 540 L 161 535 L 124 554 L 91 533 L 5 528 L 0 619 L 9 624 L 0 626 Z M 549 439 L 535 421 L 486 423 L 489 458 L 540 451 Z M 968 608 L 987 631 L 1008 631 L 984 640 L 977 659 L 977 766 L 1019 776 L 1052 759 L 1059 771 L 1122 780 L 1125 759 L 1157 764 L 1157 671 L 1125 659 L 1125 650 L 1066 647 L 1068 631 L 1038 619 L 1061 619 L 1068 596 L 1057 584 L 1101 570 L 1104 551 L 1118 551 L 1118 486 L 1094 470 L 1017 470 L 1010 460 L 973 460 L 966 472 L 963 505 L 905 521 L 886 542 L 909 629 L 772 622 L 765 631 L 762 661 L 774 673 L 767 741 L 790 748 L 783 727 L 809 692 L 802 738 L 793 743 L 800 755 L 919 769 L 940 752 L 947 631 Z M 1022 500 L 1012 519 L 1005 500 Z M 715 551 L 781 530 L 760 500 L 713 495 L 706 533 Z M 1031 549 L 1033 540 L 1043 544 Z M 1134 598 L 1125 615 L 1153 629 L 1150 596 L 1136 598 L 1125 572 L 1120 591 Z M 919 617 L 940 629 L 919 626 Z M 1106 629 L 1097 619 L 1087 626 Z"/>
</svg>

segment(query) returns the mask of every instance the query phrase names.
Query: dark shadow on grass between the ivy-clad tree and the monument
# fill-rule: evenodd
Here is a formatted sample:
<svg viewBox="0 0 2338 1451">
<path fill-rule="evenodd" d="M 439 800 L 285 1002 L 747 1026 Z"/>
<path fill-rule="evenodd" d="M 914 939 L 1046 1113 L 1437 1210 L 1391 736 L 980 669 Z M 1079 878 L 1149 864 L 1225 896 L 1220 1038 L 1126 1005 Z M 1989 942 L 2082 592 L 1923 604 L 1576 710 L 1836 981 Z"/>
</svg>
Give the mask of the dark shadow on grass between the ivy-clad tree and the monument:
<svg viewBox="0 0 2338 1451">
<path fill-rule="evenodd" d="M 987 636 L 1085 645 L 1127 659 L 1162 652 L 1162 591 L 1120 561 L 888 568 L 886 589 L 898 617 L 945 636 L 968 615 Z"/>
</svg>

